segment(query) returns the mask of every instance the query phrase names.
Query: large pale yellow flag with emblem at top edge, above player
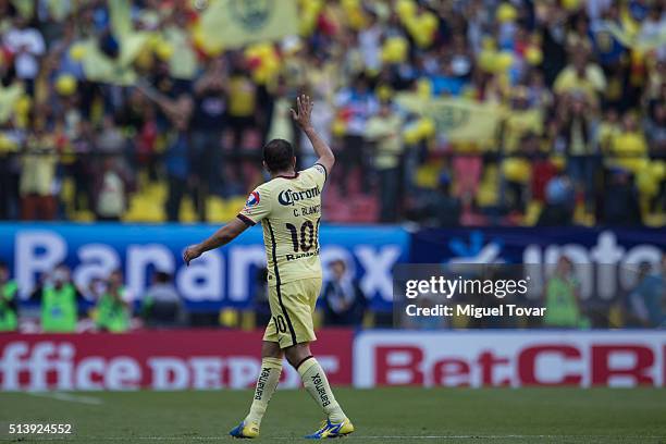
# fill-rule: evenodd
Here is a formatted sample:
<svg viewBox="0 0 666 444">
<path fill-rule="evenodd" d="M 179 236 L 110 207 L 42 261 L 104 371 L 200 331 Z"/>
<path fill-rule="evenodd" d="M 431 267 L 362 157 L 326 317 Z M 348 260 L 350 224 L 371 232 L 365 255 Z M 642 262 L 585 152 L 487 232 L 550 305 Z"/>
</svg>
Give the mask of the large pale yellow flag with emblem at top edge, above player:
<svg viewBox="0 0 666 444">
<path fill-rule="evenodd" d="M 200 25 L 211 46 L 238 48 L 297 34 L 298 10 L 296 0 L 211 0 Z"/>
</svg>

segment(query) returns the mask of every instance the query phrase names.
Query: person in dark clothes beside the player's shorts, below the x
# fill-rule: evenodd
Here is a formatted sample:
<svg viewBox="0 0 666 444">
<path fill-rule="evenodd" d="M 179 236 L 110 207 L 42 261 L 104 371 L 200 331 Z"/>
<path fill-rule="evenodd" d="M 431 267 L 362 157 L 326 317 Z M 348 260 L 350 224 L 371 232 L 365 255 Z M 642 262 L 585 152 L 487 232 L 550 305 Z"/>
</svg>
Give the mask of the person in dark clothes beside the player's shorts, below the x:
<svg viewBox="0 0 666 444">
<path fill-rule="evenodd" d="M 331 280 L 324 285 L 322 299 L 324 324 L 329 326 L 360 325 L 368 305 L 360 285 L 347 273 L 344 260 L 333 260 Z"/>
</svg>

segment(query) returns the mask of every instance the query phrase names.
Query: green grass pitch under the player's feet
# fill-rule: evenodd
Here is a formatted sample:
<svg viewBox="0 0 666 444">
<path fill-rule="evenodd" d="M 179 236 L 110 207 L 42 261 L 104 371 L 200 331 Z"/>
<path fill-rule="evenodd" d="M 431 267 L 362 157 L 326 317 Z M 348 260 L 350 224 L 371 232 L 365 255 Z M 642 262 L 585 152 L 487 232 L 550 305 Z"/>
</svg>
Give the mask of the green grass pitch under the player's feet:
<svg viewBox="0 0 666 444">
<path fill-rule="evenodd" d="M 659 388 L 336 390 L 356 424 L 349 443 L 666 443 Z M 249 391 L 0 394 L 3 442 L 231 442 Z M 301 391 L 278 391 L 260 442 L 305 442 L 321 414 Z M 67 437 L 8 435 L 9 423 L 72 423 Z"/>
</svg>

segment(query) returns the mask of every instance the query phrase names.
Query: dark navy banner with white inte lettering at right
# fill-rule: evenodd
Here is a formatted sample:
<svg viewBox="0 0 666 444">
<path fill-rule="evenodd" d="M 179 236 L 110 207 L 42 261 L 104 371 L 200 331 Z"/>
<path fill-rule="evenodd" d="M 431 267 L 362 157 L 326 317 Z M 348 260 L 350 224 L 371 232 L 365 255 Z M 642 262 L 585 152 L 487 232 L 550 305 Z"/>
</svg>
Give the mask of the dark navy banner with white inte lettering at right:
<svg viewBox="0 0 666 444">
<path fill-rule="evenodd" d="M 646 229 L 447 229 L 411 236 L 411 263 L 529 263 L 532 283 L 543 282 L 562 255 L 589 282 L 582 299 L 612 300 L 636 285 L 638 266 L 656 272 L 666 252 L 666 230 Z M 543 266 L 543 267 L 539 267 Z"/>
</svg>

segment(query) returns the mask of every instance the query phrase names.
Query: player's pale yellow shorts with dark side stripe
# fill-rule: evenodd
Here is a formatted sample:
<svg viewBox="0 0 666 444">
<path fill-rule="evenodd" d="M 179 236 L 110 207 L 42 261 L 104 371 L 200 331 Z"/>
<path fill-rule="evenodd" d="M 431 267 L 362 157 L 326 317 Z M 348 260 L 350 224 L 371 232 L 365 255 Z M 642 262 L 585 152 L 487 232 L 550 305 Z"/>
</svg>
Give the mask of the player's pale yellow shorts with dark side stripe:
<svg viewBox="0 0 666 444">
<path fill-rule="evenodd" d="M 269 286 L 271 321 L 263 341 L 276 342 L 280 348 L 316 341 L 312 314 L 320 291 L 321 278 Z"/>
</svg>

